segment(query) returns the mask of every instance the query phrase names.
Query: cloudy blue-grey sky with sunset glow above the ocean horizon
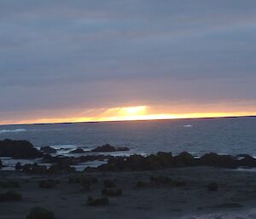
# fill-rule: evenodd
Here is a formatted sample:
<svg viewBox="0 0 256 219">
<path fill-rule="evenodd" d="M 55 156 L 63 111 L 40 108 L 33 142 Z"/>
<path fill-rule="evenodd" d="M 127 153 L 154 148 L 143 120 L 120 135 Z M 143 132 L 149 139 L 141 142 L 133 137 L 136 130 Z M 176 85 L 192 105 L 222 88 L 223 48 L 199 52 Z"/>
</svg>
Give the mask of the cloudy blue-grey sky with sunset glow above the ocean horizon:
<svg viewBox="0 0 256 219">
<path fill-rule="evenodd" d="M 0 124 L 256 115 L 255 0 L 1 0 Z"/>
</svg>

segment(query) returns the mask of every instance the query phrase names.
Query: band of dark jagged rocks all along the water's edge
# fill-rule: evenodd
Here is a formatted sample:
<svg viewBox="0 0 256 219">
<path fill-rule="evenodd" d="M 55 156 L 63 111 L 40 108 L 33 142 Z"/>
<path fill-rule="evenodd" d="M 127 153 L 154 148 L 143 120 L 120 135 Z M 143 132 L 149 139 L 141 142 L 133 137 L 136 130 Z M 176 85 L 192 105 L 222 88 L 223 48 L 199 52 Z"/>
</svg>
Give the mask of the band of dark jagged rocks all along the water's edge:
<svg viewBox="0 0 256 219">
<path fill-rule="evenodd" d="M 79 150 L 79 149 L 77 149 Z M 143 170 L 163 170 L 168 168 L 207 166 L 237 169 L 239 167 L 256 167 L 256 158 L 248 154 L 239 154 L 237 156 L 219 155 L 217 153 L 206 153 L 200 158 L 183 152 L 177 156 L 172 153 L 159 152 L 148 156 L 133 154 L 129 157 L 116 157 L 104 153 L 127 151 L 128 147 L 113 147 L 103 145 L 90 150 L 90 152 L 100 152 L 101 154 L 73 156 L 55 156 L 55 151 L 51 147 L 42 147 L 41 150 L 33 147 L 29 141 L 0 141 L 0 157 L 9 156 L 12 158 L 41 158 L 43 164 L 20 164 L 15 165 L 15 170 L 27 173 L 45 174 L 45 173 L 69 173 L 75 169 L 71 165 L 81 164 L 91 161 L 105 161 L 107 164 L 101 164 L 97 167 L 86 167 L 85 172 L 104 172 L 104 171 L 143 171 Z M 49 153 L 51 152 L 51 153 Z M 85 153 L 86 154 L 86 153 Z M 50 164 L 48 167 L 44 164 Z M 3 164 L 0 160 L 0 168 Z"/>
</svg>

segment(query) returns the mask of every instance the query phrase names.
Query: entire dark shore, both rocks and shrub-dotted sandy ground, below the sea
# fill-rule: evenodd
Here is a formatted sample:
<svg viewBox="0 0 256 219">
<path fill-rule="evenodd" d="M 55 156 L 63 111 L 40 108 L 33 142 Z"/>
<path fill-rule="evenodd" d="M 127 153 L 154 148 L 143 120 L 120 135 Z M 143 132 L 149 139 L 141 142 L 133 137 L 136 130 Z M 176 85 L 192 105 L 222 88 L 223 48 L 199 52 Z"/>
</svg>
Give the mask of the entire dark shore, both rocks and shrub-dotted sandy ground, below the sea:
<svg viewBox="0 0 256 219">
<path fill-rule="evenodd" d="M 44 149 L 48 152 L 29 141 L 0 141 L 0 156 L 40 158 L 49 164 L 0 169 L 0 219 L 96 219 L 102 214 L 109 219 L 191 218 L 255 207 L 256 176 L 236 171 L 256 167 L 256 159 L 247 154 L 113 157 L 104 150 L 117 148 L 104 145 L 96 148 L 102 154 L 64 157 Z M 80 172 L 72 166 L 91 160 L 107 163 Z"/>
</svg>

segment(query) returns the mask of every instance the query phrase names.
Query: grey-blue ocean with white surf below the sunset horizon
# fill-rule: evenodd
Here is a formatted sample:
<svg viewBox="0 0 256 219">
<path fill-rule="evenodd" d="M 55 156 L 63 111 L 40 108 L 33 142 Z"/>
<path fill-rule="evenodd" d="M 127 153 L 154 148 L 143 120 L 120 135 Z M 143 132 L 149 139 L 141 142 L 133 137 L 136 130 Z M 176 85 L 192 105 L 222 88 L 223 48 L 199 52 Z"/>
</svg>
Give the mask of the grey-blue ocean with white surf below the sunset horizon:
<svg viewBox="0 0 256 219">
<path fill-rule="evenodd" d="M 197 118 L 154 121 L 126 121 L 73 124 L 22 124 L 1 125 L 0 140 L 27 140 L 35 147 L 50 146 L 58 149 L 58 155 L 70 154 L 77 147 L 84 150 L 110 144 L 129 147 L 130 151 L 109 153 L 129 156 L 137 153 L 183 151 L 195 157 L 204 153 L 237 155 L 247 153 L 256 156 L 256 118 Z M 81 156 L 81 154 L 77 154 Z M 2 158 L 13 169 L 17 160 Z M 33 163 L 35 160 L 19 160 Z M 90 166 L 101 164 L 92 162 Z M 80 167 L 84 168 L 84 165 Z"/>
</svg>

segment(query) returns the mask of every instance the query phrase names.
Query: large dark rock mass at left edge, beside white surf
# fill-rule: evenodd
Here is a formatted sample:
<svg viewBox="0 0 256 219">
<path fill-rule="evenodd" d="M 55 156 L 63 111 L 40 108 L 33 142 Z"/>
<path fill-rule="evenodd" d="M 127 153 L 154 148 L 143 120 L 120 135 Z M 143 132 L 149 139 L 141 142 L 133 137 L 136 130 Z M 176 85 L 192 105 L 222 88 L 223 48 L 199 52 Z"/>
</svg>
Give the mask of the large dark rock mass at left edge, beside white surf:
<svg viewBox="0 0 256 219">
<path fill-rule="evenodd" d="M 43 153 L 34 148 L 29 141 L 0 141 L 0 157 L 41 158 Z"/>
</svg>

